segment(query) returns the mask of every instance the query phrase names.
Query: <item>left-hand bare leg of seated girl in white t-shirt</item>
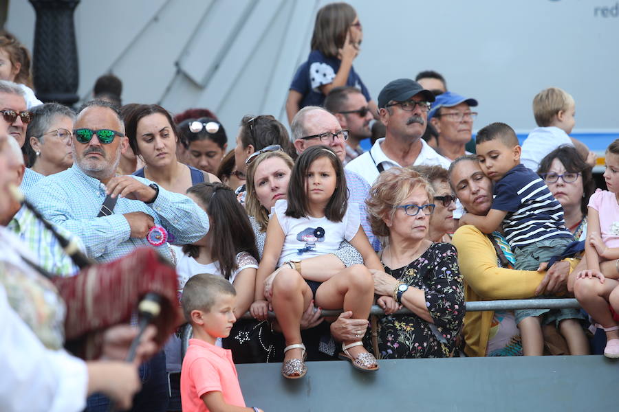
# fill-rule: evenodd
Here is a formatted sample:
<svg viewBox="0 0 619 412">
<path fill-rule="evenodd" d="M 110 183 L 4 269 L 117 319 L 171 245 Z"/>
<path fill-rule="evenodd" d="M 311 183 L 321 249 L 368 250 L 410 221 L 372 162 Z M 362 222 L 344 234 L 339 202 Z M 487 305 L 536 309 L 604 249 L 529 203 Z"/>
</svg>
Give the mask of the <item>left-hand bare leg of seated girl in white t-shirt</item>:
<svg viewBox="0 0 619 412">
<path fill-rule="evenodd" d="M 312 300 L 312 290 L 297 271 L 284 269 L 273 280 L 272 306 L 284 335 L 286 346 L 301 341 L 301 316 Z M 301 349 L 289 350 L 284 360 L 300 359 Z"/>
</svg>

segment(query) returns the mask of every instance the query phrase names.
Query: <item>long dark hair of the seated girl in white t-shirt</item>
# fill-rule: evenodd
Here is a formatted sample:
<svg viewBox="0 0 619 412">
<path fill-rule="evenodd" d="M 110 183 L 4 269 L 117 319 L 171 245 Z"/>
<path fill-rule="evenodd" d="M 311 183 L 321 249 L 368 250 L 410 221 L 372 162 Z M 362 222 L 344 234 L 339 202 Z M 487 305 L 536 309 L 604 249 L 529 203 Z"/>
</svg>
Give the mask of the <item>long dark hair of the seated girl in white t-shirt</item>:
<svg viewBox="0 0 619 412">
<path fill-rule="evenodd" d="M 327 157 L 336 172 L 336 188 L 325 207 L 325 217 L 332 222 L 341 222 L 348 208 L 348 188 L 344 166 L 333 150 L 327 146 L 317 145 L 307 148 L 294 163 L 288 183 L 288 208 L 286 216 L 304 218 L 310 213 L 310 204 L 307 201 L 307 170 L 317 159 Z"/>
</svg>

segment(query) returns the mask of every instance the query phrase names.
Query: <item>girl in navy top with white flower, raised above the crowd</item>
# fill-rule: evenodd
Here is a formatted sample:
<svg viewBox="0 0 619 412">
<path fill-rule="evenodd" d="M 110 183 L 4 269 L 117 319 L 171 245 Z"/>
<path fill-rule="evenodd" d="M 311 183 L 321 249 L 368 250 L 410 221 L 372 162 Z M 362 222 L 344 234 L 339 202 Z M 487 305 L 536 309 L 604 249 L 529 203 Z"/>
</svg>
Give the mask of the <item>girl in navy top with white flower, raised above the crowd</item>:
<svg viewBox="0 0 619 412">
<path fill-rule="evenodd" d="M 316 14 L 312 51 L 296 71 L 286 101 L 288 122 L 305 106 L 323 106 L 334 87 L 352 86 L 361 90 L 376 117 L 378 108 L 356 73 L 352 62 L 363 39 L 359 16 L 348 3 L 330 3 Z"/>
</svg>

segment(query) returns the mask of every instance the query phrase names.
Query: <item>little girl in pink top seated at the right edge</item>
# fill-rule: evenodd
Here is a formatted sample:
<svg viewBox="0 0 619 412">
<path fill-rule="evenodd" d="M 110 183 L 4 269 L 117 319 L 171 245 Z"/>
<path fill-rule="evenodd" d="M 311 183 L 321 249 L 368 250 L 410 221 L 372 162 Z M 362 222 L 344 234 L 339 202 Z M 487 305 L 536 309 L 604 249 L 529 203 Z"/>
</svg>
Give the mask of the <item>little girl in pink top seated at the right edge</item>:
<svg viewBox="0 0 619 412">
<path fill-rule="evenodd" d="M 576 275 L 574 295 L 606 332 L 604 356 L 619 358 L 619 139 L 606 150 L 604 179 L 608 191 L 598 189 L 589 199 L 587 270 Z"/>
</svg>

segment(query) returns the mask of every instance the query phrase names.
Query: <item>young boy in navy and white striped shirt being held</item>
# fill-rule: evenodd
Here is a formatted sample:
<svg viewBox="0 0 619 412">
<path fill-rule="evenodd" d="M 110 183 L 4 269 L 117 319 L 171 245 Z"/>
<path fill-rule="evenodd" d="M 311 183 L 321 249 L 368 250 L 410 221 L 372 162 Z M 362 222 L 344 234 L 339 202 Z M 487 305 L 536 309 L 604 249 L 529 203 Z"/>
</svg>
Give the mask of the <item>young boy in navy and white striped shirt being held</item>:
<svg viewBox="0 0 619 412">
<path fill-rule="evenodd" d="M 475 225 L 484 233 L 505 233 L 517 270 L 534 271 L 541 262 L 561 255 L 574 238 L 565 229 L 563 207 L 548 190 L 544 181 L 520 163 L 521 147 L 514 130 L 504 123 L 492 123 L 477 133 L 477 159 L 481 170 L 495 182 L 492 208 L 487 216 L 467 213 L 460 225 Z M 580 323 L 583 319 L 574 309 L 516 310 L 523 354 L 543 353 L 543 322 L 554 322 L 563 334 L 571 354 L 588 354 L 589 344 Z"/>
</svg>

